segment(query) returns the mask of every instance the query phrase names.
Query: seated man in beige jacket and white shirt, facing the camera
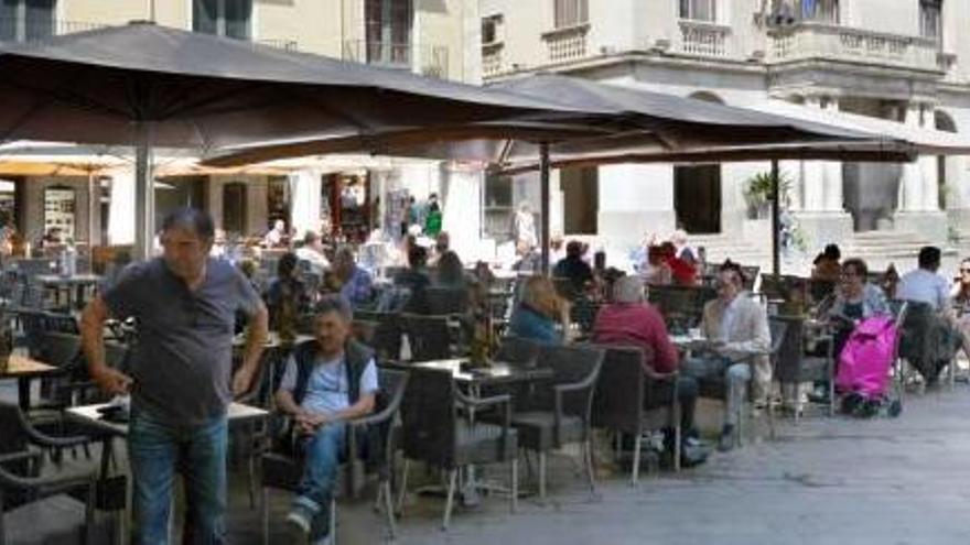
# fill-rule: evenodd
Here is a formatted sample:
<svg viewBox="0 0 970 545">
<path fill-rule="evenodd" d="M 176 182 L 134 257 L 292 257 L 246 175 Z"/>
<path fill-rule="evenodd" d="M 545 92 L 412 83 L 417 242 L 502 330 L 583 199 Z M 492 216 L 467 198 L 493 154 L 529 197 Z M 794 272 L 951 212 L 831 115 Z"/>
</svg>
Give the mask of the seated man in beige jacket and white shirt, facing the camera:
<svg viewBox="0 0 970 545">
<path fill-rule="evenodd" d="M 772 384 L 768 350 L 772 334 L 767 312 L 744 292 L 741 266 L 730 261 L 718 273 L 718 298 L 704 305 L 701 329 L 711 341 L 708 353 L 685 362 L 686 374 L 703 380 L 724 377 L 728 399 L 719 450 L 734 447 L 737 411 L 754 375 L 755 404 L 763 404 Z"/>
</svg>

